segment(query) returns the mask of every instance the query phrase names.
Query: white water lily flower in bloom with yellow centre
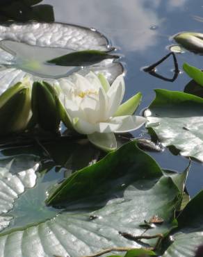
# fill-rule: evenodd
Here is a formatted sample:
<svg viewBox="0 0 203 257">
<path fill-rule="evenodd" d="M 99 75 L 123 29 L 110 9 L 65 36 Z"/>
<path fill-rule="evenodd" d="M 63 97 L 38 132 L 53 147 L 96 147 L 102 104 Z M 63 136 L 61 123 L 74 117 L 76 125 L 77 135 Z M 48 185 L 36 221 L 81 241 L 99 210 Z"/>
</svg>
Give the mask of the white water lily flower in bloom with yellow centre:
<svg viewBox="0 0 203 257">
<path fill-rule="evenodd" d="M 122 75 L 110 86 L 101 74 L 74 74 L 72 81 L 61 78 L 60 87 L 63 91 L 60 101 L 73 128 L 78 133 L 88 135 L 90 142 L 101 149 L 116 149 L 114 133 L 133 131 L 146 121 L 144 117 L 129 115 L 138 106 L 138 96 L 120 106 L 125 90 Z"/>
</svg>

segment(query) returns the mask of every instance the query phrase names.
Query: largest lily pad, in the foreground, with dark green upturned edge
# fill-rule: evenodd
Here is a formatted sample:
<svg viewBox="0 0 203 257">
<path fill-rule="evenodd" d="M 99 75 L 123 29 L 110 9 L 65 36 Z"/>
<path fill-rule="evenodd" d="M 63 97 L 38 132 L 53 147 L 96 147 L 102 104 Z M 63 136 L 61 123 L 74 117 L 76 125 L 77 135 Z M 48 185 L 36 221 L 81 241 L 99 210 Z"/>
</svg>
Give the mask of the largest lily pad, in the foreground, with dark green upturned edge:
<svg viewBox="0 0 203 257">
<path fill-rule="evenodd" d="M 139 225 L 157 215 L 163 223 L 145 234 L 167 234 L 174 226 L 174 210 L 181 201 L 181 192 L 170 176 L 163 175 L 155 160 L 138 149 L 135 142 L 76 172 L 65 185 L 66 192 L 70 192 L 68 199 L 63 199 L 66 210 L 59 209 L 56 217 L 42 218 L 35 224 L 16 224 L 15 229 L 10 226 L 0 233 L 0 256 L 78 257 L 108 247 L 140 248 L 144 242 L 154 246 L 156 239 L 135 242 L 119 231 L 140 235 L 144 230 Z M 78 189 L 72 191 L 73 188 Z M 44 194 L 41 202 L 43 197 Z M 38 206 L 38 210 L 42 207 Z M 19 212 L 13 210 L 12 214 L 23 221 L 30 208 L 25 202 L 22 219 Z M 38 210 L 31 210 L 34 217 Z M 50 211 L 53 213 L 53 209 Z"/>
</svg>

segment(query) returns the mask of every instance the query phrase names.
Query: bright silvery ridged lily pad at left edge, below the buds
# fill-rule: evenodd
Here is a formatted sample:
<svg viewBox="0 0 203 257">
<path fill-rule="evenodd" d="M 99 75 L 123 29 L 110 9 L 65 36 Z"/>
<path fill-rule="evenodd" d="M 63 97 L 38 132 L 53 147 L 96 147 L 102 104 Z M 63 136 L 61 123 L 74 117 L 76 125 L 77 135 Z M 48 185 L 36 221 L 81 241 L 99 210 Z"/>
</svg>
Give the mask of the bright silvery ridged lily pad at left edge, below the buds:
<svg viewBox="0 0 203 257">
<path fill-rule="evenodd" d="M 13 219 L 12 215 L 6 215 L 5 213 L 13 209 L 15 201 L 20 194 L 35 186 L 37 179 L 35 172 L 38 166 L 38 162 L 33 158 L 28 158 L 28 156 L 24 156 L 24 161 L 20 156 L 11 160 L 1 160 L 0 231 L 5 229 Z M 15 169 L 15 172 L 13 172 L 13 169 Z"/>
</svg>

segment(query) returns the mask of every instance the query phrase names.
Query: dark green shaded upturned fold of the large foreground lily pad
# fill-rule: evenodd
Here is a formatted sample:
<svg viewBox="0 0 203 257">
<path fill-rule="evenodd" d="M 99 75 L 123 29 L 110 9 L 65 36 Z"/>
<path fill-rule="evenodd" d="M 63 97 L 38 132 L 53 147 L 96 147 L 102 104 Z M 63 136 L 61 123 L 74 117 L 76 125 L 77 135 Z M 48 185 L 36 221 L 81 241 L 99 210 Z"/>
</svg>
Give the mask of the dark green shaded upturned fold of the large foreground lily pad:
<svg viewBox="0 0 203 257">
<path fill-rule="evenodd" d="M 138 158 L 138 162 L 136 158 Z M 147 165 L 144 165 L 144 163 L 147 163 Z M 129 175 L 126 178 L 127 181 L 124 181 L 126 170 L 128 170 Z M 112 187 L 111 183 L 115 179 L 122 181 L 124 187 L 127 187 L 132 179 L 143 179 L 147 176 L 149 178 L 159 178 L 161 175 L 160 167 L 152 161 L 152 158 L 143 154 L 143 151 L 136 147 L 136 142 L 131 142 L 108 154 L 95 165 L 73 174 L 59 186 L 54 194 L 49 196 L 47 204 L 61 204 L 64 201 L 78 200 L 92 194 L 110 194 L 111 190 L 109 188 Z"/>
</svg>

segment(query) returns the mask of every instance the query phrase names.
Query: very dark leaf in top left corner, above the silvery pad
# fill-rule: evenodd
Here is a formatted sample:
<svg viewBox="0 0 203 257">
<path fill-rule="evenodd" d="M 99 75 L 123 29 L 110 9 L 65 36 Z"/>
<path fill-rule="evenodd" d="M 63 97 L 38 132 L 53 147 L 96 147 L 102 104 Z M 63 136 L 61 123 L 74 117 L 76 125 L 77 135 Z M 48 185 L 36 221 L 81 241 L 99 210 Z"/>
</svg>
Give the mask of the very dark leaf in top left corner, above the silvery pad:
<svg viewBox="0 0 203 257">
<path fill-rule="evenodd" d="M 41 0 L 3 2 L 3 4 L 0 4 L 0 21 L 6 22 L 7 20 L 13 19 L 18 22 L 26 22 L 35 19 L 39 22 L 54 22 L 54 10 L 52 6 L 47 4 L 33 6 L 40 2 Z"/>
</svg>

